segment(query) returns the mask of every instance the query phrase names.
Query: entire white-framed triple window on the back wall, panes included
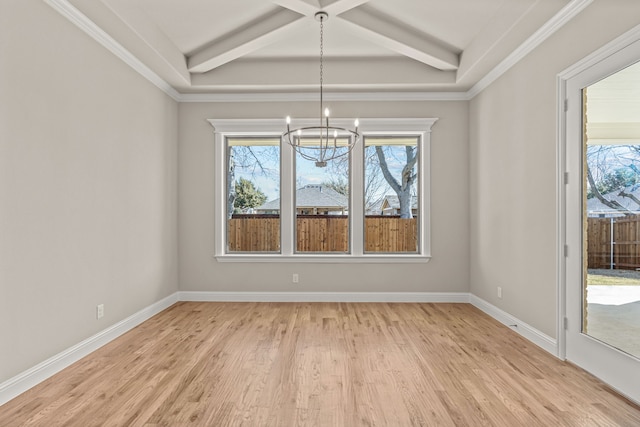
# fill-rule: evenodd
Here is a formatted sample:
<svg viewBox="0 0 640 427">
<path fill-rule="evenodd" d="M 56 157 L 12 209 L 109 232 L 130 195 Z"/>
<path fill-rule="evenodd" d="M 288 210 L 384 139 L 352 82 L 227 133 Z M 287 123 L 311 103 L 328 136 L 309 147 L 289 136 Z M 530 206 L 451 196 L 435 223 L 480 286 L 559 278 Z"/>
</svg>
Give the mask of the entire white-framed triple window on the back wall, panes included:
<svg viewBox="0 0 640 427">
<path fill-rule="evenodd" d="M 353 151 L 324 168 L 281 141 L 281 120 L 209 120 L 217 259 L 428 260 L 428 156 L 436 120 L 361 119 Z"/>
</svg>

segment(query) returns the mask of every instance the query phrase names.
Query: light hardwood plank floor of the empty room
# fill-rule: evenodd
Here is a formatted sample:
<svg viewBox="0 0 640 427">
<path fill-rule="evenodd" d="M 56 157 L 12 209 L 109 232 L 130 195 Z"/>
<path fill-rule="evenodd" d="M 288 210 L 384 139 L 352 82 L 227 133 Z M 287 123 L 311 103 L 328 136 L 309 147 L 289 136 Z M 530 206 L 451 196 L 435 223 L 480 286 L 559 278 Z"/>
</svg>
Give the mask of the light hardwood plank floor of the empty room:
<svg viewBox="0 0 640 427">
<path fill-rule="evenodd" d="M 468 304 L 178 303 L 0 407 L 0 426 L 640 426 Z"/>
</svg>

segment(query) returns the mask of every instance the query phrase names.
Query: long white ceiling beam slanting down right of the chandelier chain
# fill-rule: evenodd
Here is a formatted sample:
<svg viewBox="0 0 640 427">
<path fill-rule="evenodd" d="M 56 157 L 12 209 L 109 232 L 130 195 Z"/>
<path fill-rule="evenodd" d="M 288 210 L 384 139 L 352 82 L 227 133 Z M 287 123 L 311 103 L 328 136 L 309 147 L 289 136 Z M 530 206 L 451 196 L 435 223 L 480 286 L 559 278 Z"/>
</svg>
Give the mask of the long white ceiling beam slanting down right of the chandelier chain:
<svg viewBox="0 0 640 427">
<path fill-rule="evenodd" d="M 443 71 L 457 70 L 460 59 L 457 52 L 429 40 L 406 27 L 389 21 L 368 6 L 351 9 L 339 16 L 365 40 L 369 40 L 393 52 Z"/>
</svg>

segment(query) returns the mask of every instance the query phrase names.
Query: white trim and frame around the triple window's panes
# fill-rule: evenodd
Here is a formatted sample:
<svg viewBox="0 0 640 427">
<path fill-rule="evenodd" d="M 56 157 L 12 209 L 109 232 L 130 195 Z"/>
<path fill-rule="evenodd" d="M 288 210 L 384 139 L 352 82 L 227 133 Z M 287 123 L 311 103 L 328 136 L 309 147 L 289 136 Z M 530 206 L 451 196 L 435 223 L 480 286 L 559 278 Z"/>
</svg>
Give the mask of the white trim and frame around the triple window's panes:
<svg viewBox="0 0 640 427">
<path fill-rule="evenodd" d="M 351 253 L 349 254 L 297 254 L 294 252 L 294 221 L 292 206 L 285 201 L 293 200 L 295 192 L 295 151 L 288 144 L 282 145 L 280 176 L 280 199 L 283 205 L 280 208 L 282 229 L 280 230 L 282 244 L 279 254 L 229 254 L 225 250 L 225 206 L 226 190 L 226 154 L 225 140 L 233 136 L 276 136 L 279 137 L 285 127 L 282 119 L 208 119 L 215 132 L 214 140 L 214 232 L 215 253 L 214 257 L 220 262 L 311 262 L 311 263 L 398 263 L 398 262 L 428 262 L 431 259 L 431 127 L 437 118 L 402 118 L 402 119 L 360 119 L 359 131 L 363 136 L 375 135 L 417 135 L 420 137 L 418 149 L 418 162 L 421 165 L 418 174 L 418 191 L 420 197 L 418 230 L 418 253 L 416 254 L 365 254 L 364 245 L 364 207 L 361 206 L 362 194 L 360 186 L 354 185 L 364 179 L 362 162 L 351 164 L 351 207 L 349 214 L 349 226 L 351 229 Z M 296 126 L 313 126 L 318 119 L 297 119 Z M 353 119 L 333 119 L 332 124 L 339 127 L 350 127 Z M 362 141 L 362 140 L 361 140 Z M 352 159 L 362 158 L 364 146 L 359 142 L 354 147 Z M 355 203 L 354 201 L 358 202 Z"/>
</svg>

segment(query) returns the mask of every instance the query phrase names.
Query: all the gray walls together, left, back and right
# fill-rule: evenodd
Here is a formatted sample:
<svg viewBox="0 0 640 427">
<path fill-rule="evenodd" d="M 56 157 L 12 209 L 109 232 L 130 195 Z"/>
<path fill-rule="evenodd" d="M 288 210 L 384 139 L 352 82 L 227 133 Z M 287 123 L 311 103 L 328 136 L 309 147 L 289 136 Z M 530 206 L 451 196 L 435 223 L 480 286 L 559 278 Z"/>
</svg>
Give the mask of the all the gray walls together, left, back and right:
<svg viewBox="0 0 640 427">
<path fill-rule="evenodd" d="M 247 265 L 213 257 L 206 119 L 316 105 L 177 105 L 44 2 L 2 0 L 0 382 L 179 289 L 470 290 L 555 336 L 556 75 L 638 17 L 636 0 L 594 1 L 471 102 L 332 103 L 440 119 L 431 262 Z"/>
</svg>

